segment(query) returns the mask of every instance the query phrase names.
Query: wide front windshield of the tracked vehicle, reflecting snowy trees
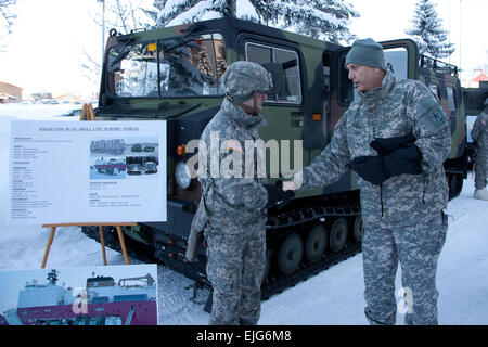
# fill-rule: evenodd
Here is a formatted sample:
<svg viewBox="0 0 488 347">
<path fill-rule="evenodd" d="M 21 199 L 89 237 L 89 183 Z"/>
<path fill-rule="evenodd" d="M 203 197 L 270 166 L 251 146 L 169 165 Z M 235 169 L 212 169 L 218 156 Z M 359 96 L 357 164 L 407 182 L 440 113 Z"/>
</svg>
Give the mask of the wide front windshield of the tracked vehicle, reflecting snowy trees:
<svg viewBox="0 0 488 347">
<path fill-rule="evenodd" d="M 221 95 L 226 69 L 219 34 L 125 44 L 108 52 L 108 91 L 117 97 Z"/>
</svg>

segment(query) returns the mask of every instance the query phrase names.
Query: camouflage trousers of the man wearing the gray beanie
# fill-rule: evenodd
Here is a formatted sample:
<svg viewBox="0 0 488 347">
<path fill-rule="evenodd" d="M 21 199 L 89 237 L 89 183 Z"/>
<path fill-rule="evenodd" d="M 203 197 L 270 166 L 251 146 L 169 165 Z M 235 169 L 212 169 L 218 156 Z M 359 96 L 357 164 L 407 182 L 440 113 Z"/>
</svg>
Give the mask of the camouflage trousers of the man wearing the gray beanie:
<svg viewBox="0 0 488 347">
<path fill-rule="evenodd" d="M 395 324 L 397 308 L 406 313 L 406 324 L 437 324 L 437 259 L 447 227 L 444 213 L 412 227 L 364 226 L 364 313 L 370 324 Z M 396 293 L 398 261 L 403 287 Z"/>
</svg>

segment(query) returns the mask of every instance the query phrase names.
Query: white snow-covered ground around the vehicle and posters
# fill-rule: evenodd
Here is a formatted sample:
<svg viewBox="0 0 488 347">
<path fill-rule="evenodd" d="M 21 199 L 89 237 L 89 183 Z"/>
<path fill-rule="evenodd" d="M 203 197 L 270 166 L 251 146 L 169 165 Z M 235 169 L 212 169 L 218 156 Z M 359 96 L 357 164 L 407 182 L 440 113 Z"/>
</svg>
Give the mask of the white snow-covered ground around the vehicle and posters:
<svg viewBox="0 0 488 347">
<path fill-rule="evenodd" d="M 0 163 L 9 163 L 11 119 L 60 120 L 53 116 L 69 107 L 74 108 L 70 105 L 0 105 Z M 38 269 L 49 230 L 7 226 L 8 168 L 8 165 L 0 166 L 0 270 Z M 437 272 L 440 324 L 488 324 L 488 203 L 472 197 L 473 185 L 470 172 L 461 195 L 447 209 L 449 231 Z M 107 248 L 107 262 L 123 265 L 124 258 Z M 86 237 L 78 228 L 59 229 L 48 268 L 101 264 L 100 244 Z M 400 271 L 397 290 L 401 287 Z M 194 293 L 192 281 L 163 266 L 158 266 L 157 280 L 159 323 L 207 324 L 209 314 L 203 308 L 208 291 Z M 363 290 L 359 254 L 264 301 L 259 324 L 367 324 Z M 403 323 L 400 313 L 397 323 Z"/>
</svg>

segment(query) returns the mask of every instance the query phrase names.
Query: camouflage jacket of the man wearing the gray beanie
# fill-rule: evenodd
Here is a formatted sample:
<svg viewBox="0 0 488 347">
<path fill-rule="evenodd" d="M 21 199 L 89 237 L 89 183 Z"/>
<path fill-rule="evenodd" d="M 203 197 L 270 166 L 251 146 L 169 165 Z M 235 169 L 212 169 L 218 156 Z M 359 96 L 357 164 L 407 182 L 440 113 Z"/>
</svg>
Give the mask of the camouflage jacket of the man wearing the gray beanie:
<svg viewBox="0 0 488 347">
<path fill-rule="evenodd" d="M 381 88 L 359 92 L 338 121 L 331 143 L 304 168 L 303 189 L 328 185 L 347 172 L 348 163 L 359 156 L 374 156 L 374 138 L 412 133 L 422 152 L 421 175 L 401 175 L 381 185 L 358 176 L 361 209 L 365 223 L 416 224 L 446 207 L 448 185 L 442 163 L 451 149 L 448 119 L 435 95 L 419 81 L 397 80 L 387 70 Z"/>
</svg>

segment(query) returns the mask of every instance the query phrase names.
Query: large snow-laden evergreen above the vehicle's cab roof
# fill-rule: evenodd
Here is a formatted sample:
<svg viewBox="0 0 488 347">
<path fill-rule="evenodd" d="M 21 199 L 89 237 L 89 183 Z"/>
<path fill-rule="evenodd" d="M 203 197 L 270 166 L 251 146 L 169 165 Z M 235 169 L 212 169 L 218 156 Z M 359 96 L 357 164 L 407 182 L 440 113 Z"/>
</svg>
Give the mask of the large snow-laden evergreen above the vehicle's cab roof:
<svg viewBox="0 0 488 347">
<path fill-rule="evenodd" d="M 333 42 L 352 40 L 355 36 L 348 28 L 350 18 L 359 16 L 343 0 L 167 0 L 157 26 L 217 18 L 229 13 Z"/>
</svg>

